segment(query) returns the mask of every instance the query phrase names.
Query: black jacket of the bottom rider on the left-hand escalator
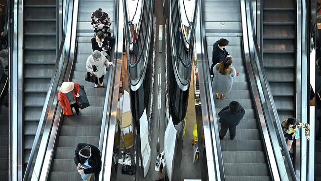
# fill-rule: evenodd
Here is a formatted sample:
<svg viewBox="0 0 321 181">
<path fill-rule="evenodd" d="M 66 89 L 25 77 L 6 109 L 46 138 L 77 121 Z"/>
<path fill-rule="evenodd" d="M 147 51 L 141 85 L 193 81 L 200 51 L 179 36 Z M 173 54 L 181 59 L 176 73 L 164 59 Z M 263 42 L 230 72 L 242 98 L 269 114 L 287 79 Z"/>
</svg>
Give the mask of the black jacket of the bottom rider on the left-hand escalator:
<svg viewBox="0 0 321 181">
<path fill-rule="evenodd" d="M 79 159 L 79 151 L 84 148 L 85 146 L 90 146 L 91 147 L 91 157 L 88 160 L 88 164 L 90 165 L 91 168 L 89 169 L 84 169 L 83 173 L 84 174 L 93 174 L 93 173 L 99 173 L 101 171 L 101 156 L 100 156 L 100 151 L 96 146 L 93 146 L 91 144 L 87 143 L 79 143 L 77 145 L 77 148 L 75 150 L 75 164 L 78 165 L 80 162 Z M 83 164 L 83 163 L 81 163 Z"/>
</svg>

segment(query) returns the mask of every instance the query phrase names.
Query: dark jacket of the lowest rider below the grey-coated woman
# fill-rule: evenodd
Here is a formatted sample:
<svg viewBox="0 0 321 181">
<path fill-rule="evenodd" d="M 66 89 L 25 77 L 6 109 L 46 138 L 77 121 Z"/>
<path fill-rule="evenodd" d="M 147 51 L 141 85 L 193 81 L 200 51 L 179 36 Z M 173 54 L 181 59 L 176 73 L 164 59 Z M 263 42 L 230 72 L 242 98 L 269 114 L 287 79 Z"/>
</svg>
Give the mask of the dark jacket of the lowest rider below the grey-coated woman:
<svg viewBox="0 0 321 181">
<path fill-rule="evenodd" d="M 233 114 L 229 106 L 226 106 L 218 113 L 218 116 L 220 117 L 218 122 L 225 127 L 229 127 L 229 128 L 235 127 L 240 123 L 244 114 L 245 114 L 245 110 L 243 109 L 242 106 L 241 106 L 241 111 L 239 111 L 236 114 Z"/>
</svg>

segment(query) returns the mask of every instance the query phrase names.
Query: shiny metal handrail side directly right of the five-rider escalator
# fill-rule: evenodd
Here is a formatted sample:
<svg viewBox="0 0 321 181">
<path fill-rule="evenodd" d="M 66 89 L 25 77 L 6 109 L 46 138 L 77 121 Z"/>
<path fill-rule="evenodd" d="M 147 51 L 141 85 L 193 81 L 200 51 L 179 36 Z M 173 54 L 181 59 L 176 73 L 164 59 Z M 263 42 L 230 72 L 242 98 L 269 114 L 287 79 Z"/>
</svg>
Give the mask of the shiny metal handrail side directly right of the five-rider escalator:
<svg viewBox="0 0 321 181">
<path fill-rule="evenodd" d="M 120 72 L 122 64 L 122 45 L 123 45 L 123 8 L 122 0 L 115 0 L 115 25 L 114 35 L 116 39 L 113 62 L 115 66 L 109 73 L 110 80 L 106 90 L 102 128 L 99 138 L 99 150 L 101 150 L 102 171 L 99 174 L 98 181 L 109 181 L 111 177 L 113 146 L 115 127 L 117 123 L 117 106 L 120 89 Z M 107 97 L 108 94 L 108 97 Z"/>
</svg>

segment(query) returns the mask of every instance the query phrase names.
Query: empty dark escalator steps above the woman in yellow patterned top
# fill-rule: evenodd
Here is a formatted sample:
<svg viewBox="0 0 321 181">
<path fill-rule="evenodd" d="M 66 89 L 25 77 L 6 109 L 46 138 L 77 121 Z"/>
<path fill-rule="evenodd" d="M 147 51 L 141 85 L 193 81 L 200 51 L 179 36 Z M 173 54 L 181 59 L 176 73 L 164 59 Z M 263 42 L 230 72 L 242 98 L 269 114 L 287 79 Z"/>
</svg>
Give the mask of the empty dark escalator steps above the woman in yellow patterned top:
<svg viewBox="0 0 321 181">
<path fill-rule="evenodd" d="M 296 1 L 265 0 L 263 63 L 280 121 L 296 117 Z"/>
</svg>

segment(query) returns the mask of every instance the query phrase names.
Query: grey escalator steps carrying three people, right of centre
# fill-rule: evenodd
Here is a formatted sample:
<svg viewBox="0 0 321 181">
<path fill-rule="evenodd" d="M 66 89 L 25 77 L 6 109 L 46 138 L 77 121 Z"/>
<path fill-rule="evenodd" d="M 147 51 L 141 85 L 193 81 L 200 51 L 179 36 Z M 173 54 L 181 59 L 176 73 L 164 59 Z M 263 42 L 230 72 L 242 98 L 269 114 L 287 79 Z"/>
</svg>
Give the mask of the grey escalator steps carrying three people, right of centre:
<svg viewBox="0 0 321 181">
<path fill-rule="evenodd" d="M 213 44 L 225 38 L 230 42 L 226 50 L 232 55 L 232 65 L 240 72 L 240 76 L 233 78 L 232 90 L 226 98 L 214 100 L 216 114 L 232 100 L 240 102 L 245 110 L 245 115 L 237 127 L 235 139 L 231 140 L 228 132 L 224 139 L 220 140 L 225 180 L 270 181 L 272 174 L 267 159 L 267 149 L 253 105 L 254 97 L 243 55 L 241 1 L 205 0 L 202 8 L 209 66 L 212 64 Z M 211 93 L 215 96 L 215 92 Z M 219 117 L 216 117 L 218 120 Z M 220 124 L 218 127 L 220 129 Z"/>
</svg>

